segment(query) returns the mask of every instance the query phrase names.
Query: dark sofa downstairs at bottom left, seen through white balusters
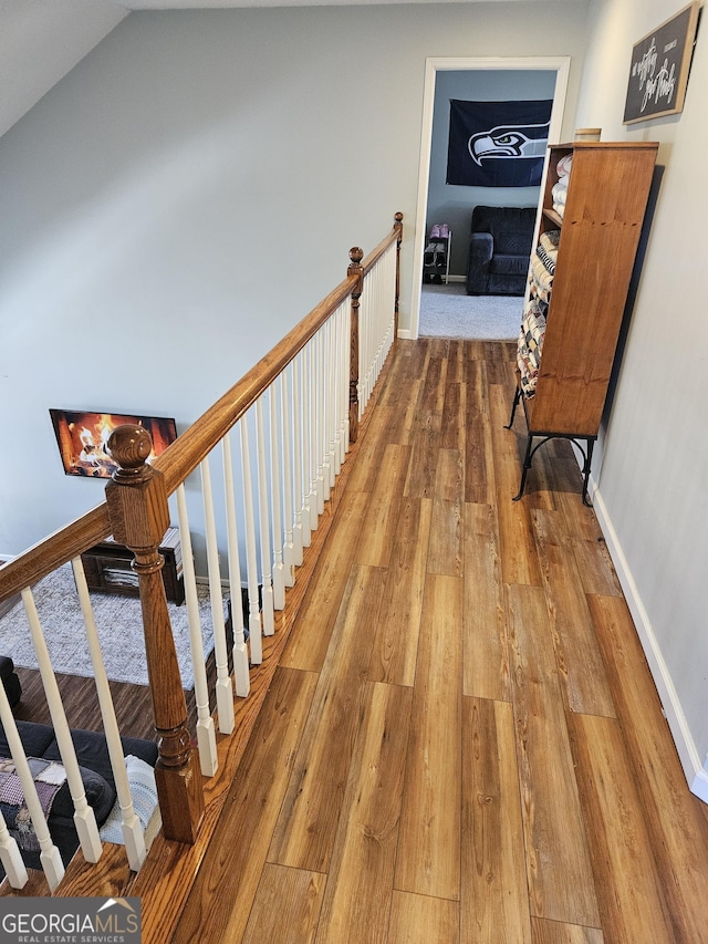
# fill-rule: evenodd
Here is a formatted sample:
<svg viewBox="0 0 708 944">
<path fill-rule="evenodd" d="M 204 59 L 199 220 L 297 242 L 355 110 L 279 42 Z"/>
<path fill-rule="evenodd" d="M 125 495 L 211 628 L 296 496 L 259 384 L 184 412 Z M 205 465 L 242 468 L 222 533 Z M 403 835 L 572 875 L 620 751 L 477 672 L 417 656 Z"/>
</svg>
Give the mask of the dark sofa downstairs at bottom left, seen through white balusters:
<svg viewBox="0 0 708 944">
<path fill-rule="evenodd" d="M 18 733 L 28 757 L 40 757 L 61 763 L 54 728 L 31 722 L 17 722 Z M 72 730 L 72 740 L 76 748 L 76 759 L 86 790 L 86 800 L 93 807 L 96 823 L 101 827 L 111 812 L 116 799 L 115 781 L 111 769 L 108 748 L 103 734 L 87 730 Z M 139 757 L 150 767 L 157 761 L 157 745 L 140 738 L 121 738 L 123 754 Z M 10 757 L 4 729 L 0 725 L 0 757 Z M 52 840 L 58 847 L 64 864 L 67 864 L 79 849 L 79 837 L 74 827 L 74 803 L 69 784 L 63 784 L 52 803 L 49 817 Z M 30 869 L 40 869 L 39 852 L 23 852 L 22 858 Z M 2 869 L 0 867 L 0 874 Z"/>
</svg>

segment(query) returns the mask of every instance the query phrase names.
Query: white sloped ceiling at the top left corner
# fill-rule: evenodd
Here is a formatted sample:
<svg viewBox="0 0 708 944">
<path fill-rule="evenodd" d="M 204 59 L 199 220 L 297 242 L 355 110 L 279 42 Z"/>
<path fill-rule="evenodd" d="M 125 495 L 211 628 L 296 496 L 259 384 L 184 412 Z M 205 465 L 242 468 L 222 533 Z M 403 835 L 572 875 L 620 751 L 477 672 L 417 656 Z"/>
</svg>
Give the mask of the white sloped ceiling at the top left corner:
<svg viewBox="0 0 708 944">
<path fill-rule="evenodd" d="M 351 2 L 352 0 L 0 0 L 0 135 L 29 112 L 133 10 L 339 6 Z M 430 3 L 449 0 L 355 2 Z"/>
</svg>

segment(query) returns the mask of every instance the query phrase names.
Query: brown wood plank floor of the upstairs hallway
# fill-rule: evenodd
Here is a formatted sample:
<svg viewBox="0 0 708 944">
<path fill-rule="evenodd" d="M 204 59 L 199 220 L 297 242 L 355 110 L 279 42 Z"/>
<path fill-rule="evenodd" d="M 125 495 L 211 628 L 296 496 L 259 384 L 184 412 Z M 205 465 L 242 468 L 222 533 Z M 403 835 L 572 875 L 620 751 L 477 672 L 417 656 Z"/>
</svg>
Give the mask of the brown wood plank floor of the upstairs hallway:
<svg viewBox="0 0 708 944">
<path fill-rule="evenodd" d="M 511 501 L 512 357 L 399 343 L 173 941 L 708 942 L 706 808 L 568 444 Z"/>
</svg>

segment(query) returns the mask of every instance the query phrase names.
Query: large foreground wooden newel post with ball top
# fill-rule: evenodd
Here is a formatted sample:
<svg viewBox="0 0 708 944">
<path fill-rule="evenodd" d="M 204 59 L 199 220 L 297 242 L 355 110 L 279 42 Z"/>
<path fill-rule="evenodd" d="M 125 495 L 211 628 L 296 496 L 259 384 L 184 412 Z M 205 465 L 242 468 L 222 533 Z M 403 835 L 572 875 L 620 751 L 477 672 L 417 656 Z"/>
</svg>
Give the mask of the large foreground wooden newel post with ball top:
<svg viewBox="0 0 708 944">
<path fill-rule="evenodd" d="M 147 673 L 153 696 L 159 757 L 155 768 L 163 833 L 166 839 L 195 842 L 204 816 L 201 772 L 187 728 L 175 641 L 163 583 L 160 541 L 169 527 L 162 473 L 146 464 L 153 444 L 142 426 L 115 429 L 108 452 L 119 468 L 106 486 L 113 537 L 135 554 Z"/>
</svg>

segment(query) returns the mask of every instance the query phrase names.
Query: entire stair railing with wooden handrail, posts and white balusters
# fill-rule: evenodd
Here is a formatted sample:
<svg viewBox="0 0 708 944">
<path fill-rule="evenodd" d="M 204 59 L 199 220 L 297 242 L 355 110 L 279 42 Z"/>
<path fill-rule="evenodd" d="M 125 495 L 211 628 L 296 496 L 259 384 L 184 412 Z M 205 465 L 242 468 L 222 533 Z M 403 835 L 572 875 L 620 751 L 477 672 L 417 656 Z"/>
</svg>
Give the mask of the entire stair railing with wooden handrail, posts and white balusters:
<svg viewBox="0 0 708 944">
<path fill-rule="evenodd" d="M 135 871 L 145 859 L 145 847 L 139 824 L 136 830 L 115 713 L 95 626 L 92 630 L 91 602 L 81 566 L 81 553 L 111 535 L 133 551 L 158 736 L 156 781 L 163 834 L 169 840 L 194 843 L 205 811 L 202 776 L 216 774 L 218 751 L 191 552 L 189 516 L 194 511 L 188 510 L 185 481 L 198 473 L 201 483 L 201 523 L 217 676 L 216 716 L 219 732 L 228 735 L 233 730 L 235 693 L 237 697 L 249 694 L 251 667 L 263 658 L 263 641 L 274 632 L 275 611 L 287 609 L 288 590 L 295 583 L 304 549 L 311 544 L 350 444 L 357 437 L 358 424 L 376 378 L 395 341 L 402 237 L 403 215 L 396 214 L 392 232 L 376 249 L 366 258 L 360 249 L 353 249 L 346 278 L 152 465 L 146 461 L 152 444 L 145 429 L 123 426 L 114 430 L 108 447 L 118 469 L 106 486 L 106 501 L 0 568 L 0 602 L 22 592 L 25 603 L 86 861 L 96 861 L 101 843 L 95 822 L 92 822 L 92 810 L 83 796 L 66 715 L 30 588 L 72 561 L 104 732 L 124 812 L 129 867 Z M 212 487 L 217 463 L 226 508 L 223 540 L 217 525 Z M 240 489 L 237 479 L 240 479 Z M 187 723 L 162 580 L 164 561 L 158 550 L 170 523 L 169 497 L 173 495 L 183 546 L 195 673 L 196 751 Z M 222 568 L 225 558 L 227 566 Z M 244 591 L 242 563 L 246 566 Z M 225 620 L 225 583 L 230 589 L 231 601 L 233 640 L 230 645 Z M 247 625 L 242 600 L 247 601 Z M 18 772 L 22 772 L 21 744 L 4 692 L 0 693 L 0 715 Z M 33 784 L 25 777 L 23 785 L 31 797 Z M 58 862 L 42 822 L 38 823 L 38 838 L 43 859 L 51 863 L 48 880 L 53 890 L 61 881 L 63 867 Z M 21 888 L 27 874 L 17 868 L 17 850 L 12 843 L 0 826 L 3 865 L 11 884 Z"/>
</svg>

